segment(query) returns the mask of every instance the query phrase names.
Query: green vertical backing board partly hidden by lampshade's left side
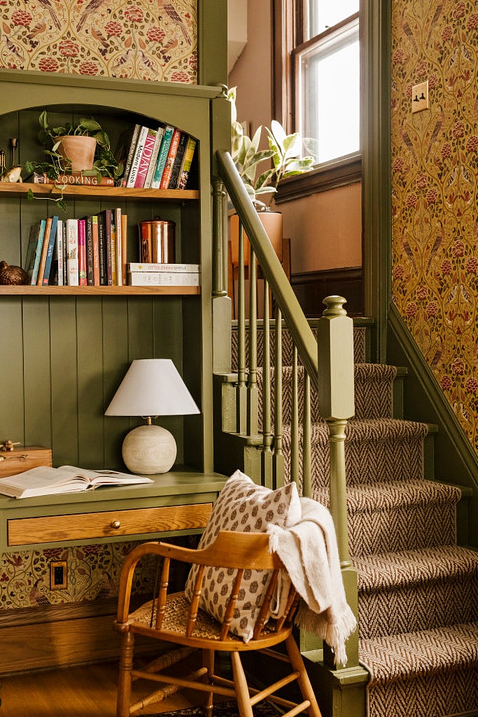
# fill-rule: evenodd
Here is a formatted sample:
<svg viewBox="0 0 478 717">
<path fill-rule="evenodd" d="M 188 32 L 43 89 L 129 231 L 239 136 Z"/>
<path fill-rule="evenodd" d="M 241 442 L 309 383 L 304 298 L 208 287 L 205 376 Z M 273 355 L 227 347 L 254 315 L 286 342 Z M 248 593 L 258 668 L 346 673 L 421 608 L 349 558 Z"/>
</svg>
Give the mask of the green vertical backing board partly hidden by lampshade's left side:
<svg viewBox="0 0 478 717">
<path fill-rule="evenodd" d="M 102 412 L 108 407 L 130 365 L 128 341 L 128 299 L 110 296 L 102 300 L 103 394 Z M 103 418 L 104 464 L 122 468 L 121 445 L 130 420 L 120 416 Z"/>
</svg>

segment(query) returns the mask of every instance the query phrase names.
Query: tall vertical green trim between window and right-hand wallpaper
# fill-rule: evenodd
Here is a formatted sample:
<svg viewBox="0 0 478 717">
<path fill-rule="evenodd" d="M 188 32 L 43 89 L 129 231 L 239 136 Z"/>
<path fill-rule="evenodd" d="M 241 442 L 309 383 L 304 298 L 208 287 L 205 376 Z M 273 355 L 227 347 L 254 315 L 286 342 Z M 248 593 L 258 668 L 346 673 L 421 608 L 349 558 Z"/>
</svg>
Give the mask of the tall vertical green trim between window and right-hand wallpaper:
<svg viewBox="0 0 478 717">
<path fill-rule="evenodd" d="M 360 29 L 365 314 L 376 318 L 372 356 L 383 361 L 391 293 L 391 0 L 364 0 Z"/>
</svg>

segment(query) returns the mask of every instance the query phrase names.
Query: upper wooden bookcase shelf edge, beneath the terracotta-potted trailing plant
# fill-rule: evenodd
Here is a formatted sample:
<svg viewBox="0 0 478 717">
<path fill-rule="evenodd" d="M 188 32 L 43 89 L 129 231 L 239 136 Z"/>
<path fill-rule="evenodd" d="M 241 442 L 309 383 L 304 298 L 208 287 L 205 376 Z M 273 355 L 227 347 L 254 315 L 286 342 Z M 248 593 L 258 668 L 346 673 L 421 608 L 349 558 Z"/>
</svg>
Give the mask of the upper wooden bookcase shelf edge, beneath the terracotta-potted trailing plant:
<svg viewBox="0 0 478 717">
<path fill-rule="evenodd" d="M 187 201 L 198 199 L 199 191 L 196 189 L 127 189 L 123 186 L 66 186 L 63 190 L 54 184 L 31 184 L 29 182 L 8 182 L 0 181 L 0 194 L 7 196 L 24 196 L 29 189 L 38 196 L 52 196 L 52 199 L 59 199 L 60 196 L 87 196 L 97 199 L 171 199 L 175 201 Z"/>
</svg>

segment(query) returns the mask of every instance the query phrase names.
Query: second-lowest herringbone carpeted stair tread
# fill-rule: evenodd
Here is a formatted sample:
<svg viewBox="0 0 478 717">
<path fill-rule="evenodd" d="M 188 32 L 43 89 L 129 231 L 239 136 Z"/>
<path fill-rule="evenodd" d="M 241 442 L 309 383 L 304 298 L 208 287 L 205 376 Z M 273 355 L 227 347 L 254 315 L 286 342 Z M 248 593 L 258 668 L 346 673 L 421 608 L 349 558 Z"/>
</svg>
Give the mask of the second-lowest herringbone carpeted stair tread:
<svg viewBox="0 0 478 717">
<path fill-rule="evenodd" d="M 353 564 L 358 589 L 366 592 L 458 576 L 478 579 L 478 553 L 456 545 L 355 557 Z"/>
</svg>

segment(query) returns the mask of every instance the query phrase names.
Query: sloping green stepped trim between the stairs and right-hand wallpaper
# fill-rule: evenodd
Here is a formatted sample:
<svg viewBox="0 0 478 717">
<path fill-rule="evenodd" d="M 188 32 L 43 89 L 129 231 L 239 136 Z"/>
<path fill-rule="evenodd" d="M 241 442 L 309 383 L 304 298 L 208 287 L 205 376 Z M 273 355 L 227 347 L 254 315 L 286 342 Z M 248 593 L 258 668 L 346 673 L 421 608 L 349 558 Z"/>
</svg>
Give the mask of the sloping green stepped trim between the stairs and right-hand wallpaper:
<svg viewBox="0 0 478 717">
<path fill-rule="evenodd" d="M 387 360 L 404 365 L 407 378 L 403 386 L 405 417 L 435 423 L 439 432 L 434 440 L 435 477 L 444 483 L 465 485 L 473 490 L 469 501 L 469 544 L 478 546 L 478 455 L 469 442 L 449 402 L 419 351 L 403 318 L 392 305 L 389 313 Z"/>
</svg>

